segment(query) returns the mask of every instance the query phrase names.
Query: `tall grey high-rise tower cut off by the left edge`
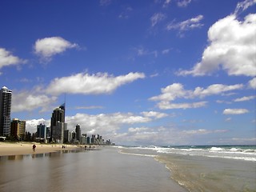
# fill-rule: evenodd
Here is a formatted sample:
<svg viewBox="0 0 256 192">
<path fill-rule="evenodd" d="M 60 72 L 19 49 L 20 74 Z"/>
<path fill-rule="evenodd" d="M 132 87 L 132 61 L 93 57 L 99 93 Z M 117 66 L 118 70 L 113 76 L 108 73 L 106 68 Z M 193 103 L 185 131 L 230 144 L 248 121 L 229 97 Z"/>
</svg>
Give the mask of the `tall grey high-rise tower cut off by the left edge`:
<svg viewBox="0 0 256 192">
<path fill-rule="evenodd" d="M 12 91 L 6 86 L 0 90 L 0 136 L 10 136 L 10 110 Z"/>
</svg>

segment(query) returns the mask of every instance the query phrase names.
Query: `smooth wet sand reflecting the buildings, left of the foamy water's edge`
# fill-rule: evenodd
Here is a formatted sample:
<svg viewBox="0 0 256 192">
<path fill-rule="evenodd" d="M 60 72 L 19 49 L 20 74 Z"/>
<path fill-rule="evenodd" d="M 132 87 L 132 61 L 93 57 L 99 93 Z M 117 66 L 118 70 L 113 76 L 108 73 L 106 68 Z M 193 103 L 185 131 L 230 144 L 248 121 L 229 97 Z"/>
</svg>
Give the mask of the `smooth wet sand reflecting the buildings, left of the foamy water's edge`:
<svg viewBox="0 0 256 192">
<path fill-rule="evenodd" d="M 164 164 L 117 149 L 0 158 L 0 191 L 184 192 Z"/>
</svg>

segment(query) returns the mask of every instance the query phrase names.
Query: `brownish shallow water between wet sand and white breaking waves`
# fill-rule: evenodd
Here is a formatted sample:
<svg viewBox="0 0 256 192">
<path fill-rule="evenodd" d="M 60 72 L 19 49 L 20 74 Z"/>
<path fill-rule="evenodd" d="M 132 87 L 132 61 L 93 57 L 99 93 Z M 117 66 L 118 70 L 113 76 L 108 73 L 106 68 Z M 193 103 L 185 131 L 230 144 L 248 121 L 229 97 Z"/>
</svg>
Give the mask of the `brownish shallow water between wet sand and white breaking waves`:
<svg viewBox="0 0 256 192">
<path fill-rule="evenodd" d="M 121 148 L 130 155 L 155 155 L 170 169 L 171 178 L 187 190 L 197 192 L 256 191 L 256 163 L 242 159 L 202 155 L 158 153 L 142 148 Z"/>
</svg>

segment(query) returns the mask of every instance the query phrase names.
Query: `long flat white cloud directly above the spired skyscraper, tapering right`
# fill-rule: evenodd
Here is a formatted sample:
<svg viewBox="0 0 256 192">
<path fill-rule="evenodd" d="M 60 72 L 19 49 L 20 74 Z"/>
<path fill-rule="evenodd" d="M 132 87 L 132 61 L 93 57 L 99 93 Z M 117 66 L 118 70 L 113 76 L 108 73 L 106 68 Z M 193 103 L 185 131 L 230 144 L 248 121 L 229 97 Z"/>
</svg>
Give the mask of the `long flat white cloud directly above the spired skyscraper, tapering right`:
<svg viewBox="0 0 256 192">
<path fill-rule="evenodd" d="M 109 74 L 74 74 L 69 77 L 55 78 L 46 88 L 48 94 L 110 94 L 119 86 L 145 78 L 142 73 L 129 73 L 114 77 Z"/>
</svg>

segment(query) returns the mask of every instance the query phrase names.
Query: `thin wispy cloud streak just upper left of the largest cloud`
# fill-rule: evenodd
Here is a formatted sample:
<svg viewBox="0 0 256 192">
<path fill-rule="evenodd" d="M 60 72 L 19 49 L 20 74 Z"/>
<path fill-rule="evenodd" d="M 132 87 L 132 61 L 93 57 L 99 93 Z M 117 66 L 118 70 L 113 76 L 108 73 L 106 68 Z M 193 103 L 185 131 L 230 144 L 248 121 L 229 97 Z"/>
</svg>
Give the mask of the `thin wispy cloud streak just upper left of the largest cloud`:
<svg viewBox="0 0 256 192">
<path fill-rule="evenodd" d="M 166 29 L 185 31 L 185 30 L 193 30 L 194 28 L 200 28 L 203 26 L 203 24 L 200 23 L 202 18 L 203 16 L 202 14 L 200 14 L 195 18 L 190 18 L 183 22 L 178 22 L 178 23 L 170 22 L 166 26 Z"/>
</svg>

